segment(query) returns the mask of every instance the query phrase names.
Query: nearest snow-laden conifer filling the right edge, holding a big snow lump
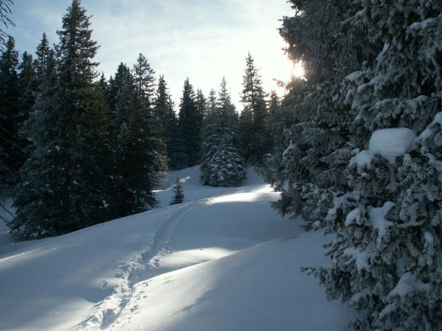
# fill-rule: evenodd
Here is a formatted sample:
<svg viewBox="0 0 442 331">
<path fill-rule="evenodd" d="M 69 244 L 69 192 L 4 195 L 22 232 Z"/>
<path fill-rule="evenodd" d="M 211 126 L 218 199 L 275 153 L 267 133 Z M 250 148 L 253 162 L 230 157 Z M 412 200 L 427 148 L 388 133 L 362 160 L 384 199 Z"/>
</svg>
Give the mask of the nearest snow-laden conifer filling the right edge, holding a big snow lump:
<svg viewBox="0 0 442 331">
<path fill-rule="evenodd" d="M 361 5 L 353 22 L 383 48 L 343 83 L 362 151 L 327 214 L 332 266 L 317 274 L 358 311 L 354 330 L 441 330 L 442 5 Z"/>
</svg>

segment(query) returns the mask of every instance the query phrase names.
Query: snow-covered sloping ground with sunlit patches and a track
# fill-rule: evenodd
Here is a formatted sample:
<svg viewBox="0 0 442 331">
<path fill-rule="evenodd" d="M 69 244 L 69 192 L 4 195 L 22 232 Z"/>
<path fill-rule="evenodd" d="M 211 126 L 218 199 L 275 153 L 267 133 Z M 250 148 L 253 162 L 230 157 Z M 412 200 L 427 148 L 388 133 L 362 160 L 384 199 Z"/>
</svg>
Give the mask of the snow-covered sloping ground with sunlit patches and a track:
<svg viewBox="0 0 442 331">
<path fill-rule="evenodd" d="M 198 175 L 171 172 L 149 212 L 37 241 L 1 233 L 0 330 L 344 330 L 349 312 L 300 273 L 327 263 L 330 239 L 279 217 L 251 170 L 241 188 Z M 176 177 L 185 202 L 168 206 Z"/>
</svg>

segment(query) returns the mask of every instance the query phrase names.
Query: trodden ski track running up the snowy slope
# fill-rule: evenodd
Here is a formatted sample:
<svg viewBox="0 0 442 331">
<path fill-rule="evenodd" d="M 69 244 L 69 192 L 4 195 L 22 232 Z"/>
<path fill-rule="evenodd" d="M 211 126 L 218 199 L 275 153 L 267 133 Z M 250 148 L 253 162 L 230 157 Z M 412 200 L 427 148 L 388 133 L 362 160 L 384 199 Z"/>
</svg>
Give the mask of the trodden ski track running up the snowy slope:
<svg viewBox="0 0 442 331">
<path fill-rule="evenodd" d="M 115 274 L 114 278 L 124 279 L 123 283 L 115 288 L 111 295 L 93 305 L 94 312 L 75 325 L 72 330 L 106 330 L 110 327 L 118 319 L 120 312 L 124 310 L 126 304 L 131 299 L 134 285 L 150 278 L 148 263 L 161 250 L 167 248 L 177 225 L 186 221 L 195 205 L 204 203 L 206 200 L 190 201 L 183 205 L 170 207 L 176 210 L 173 211 L 166 221 L 163 221 L 160 229 L 151 238 L 146 238 L 148 243 L 142 253 L 137 254 L 128 263 L 118 265 L 119 271 Z"/>
</svg>

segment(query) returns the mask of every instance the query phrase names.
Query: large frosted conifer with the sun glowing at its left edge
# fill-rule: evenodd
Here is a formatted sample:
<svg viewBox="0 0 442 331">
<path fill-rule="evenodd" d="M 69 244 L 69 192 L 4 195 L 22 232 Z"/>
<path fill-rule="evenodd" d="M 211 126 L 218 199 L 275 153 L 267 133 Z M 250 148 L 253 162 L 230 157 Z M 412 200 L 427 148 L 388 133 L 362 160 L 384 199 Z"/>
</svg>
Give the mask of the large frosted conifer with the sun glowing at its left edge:
<svg viewBox="0 0 442 331">
<path fill-rule="evenodd" d="M 302 61 L 306 79 L 294 78 L 280 107 L 282 134 L 266 158 L 265 177 L 282 190 L 282 214 L 302 216 L 306 228 L 325 225 L 329 199 L 347 190 L 345 166 L 354 142 L 353 115 L 341 101 L 340 83 L 364 61 L 374 59 L 367 34 L 351 19 L 354 1 L 290 1 L 296 14 L 283 19 L 287 54 Z"/>
</svg>

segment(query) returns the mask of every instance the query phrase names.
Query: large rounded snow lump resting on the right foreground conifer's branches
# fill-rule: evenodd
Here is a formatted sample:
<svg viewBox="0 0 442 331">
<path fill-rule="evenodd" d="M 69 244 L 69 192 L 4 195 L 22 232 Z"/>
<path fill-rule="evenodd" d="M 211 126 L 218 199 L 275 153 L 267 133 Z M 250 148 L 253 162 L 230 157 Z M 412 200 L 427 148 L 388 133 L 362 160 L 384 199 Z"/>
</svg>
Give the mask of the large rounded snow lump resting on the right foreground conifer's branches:
<svg viewBox="0 0 442 331">
<path fill-rule="evenodd" d="M 358 168 L 362 168 L 368 165 L 376 154 L 394 163 L 396 157 L 410 152 L 415 140 L 416 134 L 407 128 L 376 130 L 369 140 L 369 149 L 362 150 L 352 157 L 350 165 L 356 163 Z"/>
</svg>

